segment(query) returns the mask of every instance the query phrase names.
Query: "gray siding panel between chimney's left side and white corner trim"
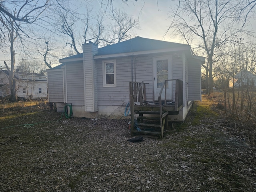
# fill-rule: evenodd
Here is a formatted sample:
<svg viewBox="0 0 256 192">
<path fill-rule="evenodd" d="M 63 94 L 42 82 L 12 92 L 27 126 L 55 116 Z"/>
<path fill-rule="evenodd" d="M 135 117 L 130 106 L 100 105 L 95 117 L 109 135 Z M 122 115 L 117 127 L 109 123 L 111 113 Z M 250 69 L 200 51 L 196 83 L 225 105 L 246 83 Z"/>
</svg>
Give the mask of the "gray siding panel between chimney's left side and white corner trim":
<svg viewBox="0 0 256 192">
<path fill-rule="evenodd" d="M 72 103 L 72 105 L 84 105 L 83 70 L 82 62 L 66 64 L 67 103 Z"/>
</svg>

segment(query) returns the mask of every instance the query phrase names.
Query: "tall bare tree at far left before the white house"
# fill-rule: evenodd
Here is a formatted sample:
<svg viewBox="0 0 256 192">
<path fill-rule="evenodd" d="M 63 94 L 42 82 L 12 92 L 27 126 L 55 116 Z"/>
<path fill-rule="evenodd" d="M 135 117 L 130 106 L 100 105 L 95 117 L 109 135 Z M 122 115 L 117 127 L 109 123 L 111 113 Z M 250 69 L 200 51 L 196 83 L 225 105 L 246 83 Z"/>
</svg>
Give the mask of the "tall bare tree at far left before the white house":
<svg viewBox="0 0 256 192">
<path fill-rule="evenodd" d="M 63 0 L 2 0 L 0 2 L 0 38 L 2 44 L 10 46 L 10 67 L 4 62 L 9 73 L 9 86 L 11 92 L 11 101 L 16 101 L 15 91 L 15 47 L 14 43 L 17 40 L 22 40 L 22 36 L 29 37 L 26 33 L 28 25 L 24 24 L 37 24 L 37 27 L 43 26 L 43 22 L 46 22 L 46 18 L 49 13 L 43 15 L 44 12 L 51 10 L 50 8 L 64 7 L 65 1 Z M 40 22 L 37 22 L 40 20 Z M 24 42 L 20 41 L 22 47 Z M 0 47 L 2 49 L 2 46 Z"/>
</svg>

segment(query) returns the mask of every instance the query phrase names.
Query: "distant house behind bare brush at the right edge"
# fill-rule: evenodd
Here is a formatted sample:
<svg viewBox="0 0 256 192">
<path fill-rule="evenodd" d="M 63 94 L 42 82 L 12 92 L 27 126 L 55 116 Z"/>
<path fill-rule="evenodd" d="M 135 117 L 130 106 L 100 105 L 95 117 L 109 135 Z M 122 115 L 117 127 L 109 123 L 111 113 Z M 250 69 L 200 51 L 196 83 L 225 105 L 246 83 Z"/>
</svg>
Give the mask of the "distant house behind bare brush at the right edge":
<svg viewBox="0 0 256 192">
<path fill-rule="evenodd" d="M 247 70 L 238 72 L 234 76 L 234 87 L 241 86 L 256 86 L 256 75 Z"/>
</svg>

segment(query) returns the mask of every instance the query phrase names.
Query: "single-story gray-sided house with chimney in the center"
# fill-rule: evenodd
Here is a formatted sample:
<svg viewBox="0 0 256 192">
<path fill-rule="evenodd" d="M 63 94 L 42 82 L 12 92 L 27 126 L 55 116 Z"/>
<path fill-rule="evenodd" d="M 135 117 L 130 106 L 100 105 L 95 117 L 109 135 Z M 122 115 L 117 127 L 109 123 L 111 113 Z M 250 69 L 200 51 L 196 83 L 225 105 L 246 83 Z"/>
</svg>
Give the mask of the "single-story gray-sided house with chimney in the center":
<svg viewBox="0 0 256 192">
<path fill-rule="evenodd" d="M 75 117 L 122 117 L 129 102 L 129 82 L 144 82 L 146 101 L 158 100 L 164 80 L 180 79 L 184 106 L 170 120 L 184 121 L 192 102 L 201 100 L 201 64 L 189 45 L 136 37 L 98 48 L 83 44 L 83 53 L 60 59 L 46 70 L 49 102 L 57 111 L 72 104 Z M 172 82 L 167 99 L 174 100 Z M 164 96 L 164 95 L 163 95 Z"/>
</svg>

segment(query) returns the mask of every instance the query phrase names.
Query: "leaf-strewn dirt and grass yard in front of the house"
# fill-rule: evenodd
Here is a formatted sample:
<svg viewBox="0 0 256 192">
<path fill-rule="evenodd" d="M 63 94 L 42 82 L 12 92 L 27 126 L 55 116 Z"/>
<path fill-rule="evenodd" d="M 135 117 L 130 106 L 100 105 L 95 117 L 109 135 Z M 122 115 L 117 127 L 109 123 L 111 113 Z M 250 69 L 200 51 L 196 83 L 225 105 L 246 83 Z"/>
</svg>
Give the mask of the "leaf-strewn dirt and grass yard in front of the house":
<svg viewBox="0 0 256 192">
<path fill-rule="evenodd" d="M 196 102 L 163 139 L 128 142 L 129 120 L 61 118 L 26 108 L 0 116 L 2 192 L 253 192 L 254 132 Z M 170 127 L 170 126 L 169 126 Z"/>
</svg>

